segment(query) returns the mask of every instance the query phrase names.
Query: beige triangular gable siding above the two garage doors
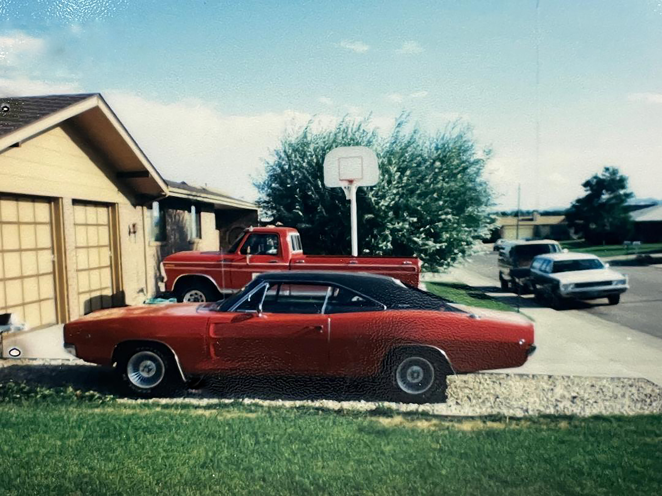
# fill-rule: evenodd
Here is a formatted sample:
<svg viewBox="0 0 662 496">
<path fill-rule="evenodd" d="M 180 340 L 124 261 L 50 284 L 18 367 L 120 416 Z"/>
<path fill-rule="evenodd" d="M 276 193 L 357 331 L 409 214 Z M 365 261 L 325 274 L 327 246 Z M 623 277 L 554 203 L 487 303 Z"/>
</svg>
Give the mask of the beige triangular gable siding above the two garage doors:
<svg viewBox="0 0 662 496">
<path fill-rule="evenodd" d="M 129 203 L 99 154 L 62 124 L 0 153 L 3 192 Z"/>
</svg>

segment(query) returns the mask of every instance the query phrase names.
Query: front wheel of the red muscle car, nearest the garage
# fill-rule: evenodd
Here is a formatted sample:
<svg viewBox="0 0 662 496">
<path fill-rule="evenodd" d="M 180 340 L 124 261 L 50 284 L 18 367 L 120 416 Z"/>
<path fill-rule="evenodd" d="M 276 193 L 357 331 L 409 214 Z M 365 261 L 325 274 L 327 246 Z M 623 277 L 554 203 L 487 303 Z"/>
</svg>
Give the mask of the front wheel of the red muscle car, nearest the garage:
<svg viewBox="0 0 662 496">
<path fill-rule="evenodd" d="M 129 392 L 142 397 L 169 395 L 181 378 L 175 360 L 159 347 L 136 347 L 122 354 L 117 372 Z"/>
</svg>

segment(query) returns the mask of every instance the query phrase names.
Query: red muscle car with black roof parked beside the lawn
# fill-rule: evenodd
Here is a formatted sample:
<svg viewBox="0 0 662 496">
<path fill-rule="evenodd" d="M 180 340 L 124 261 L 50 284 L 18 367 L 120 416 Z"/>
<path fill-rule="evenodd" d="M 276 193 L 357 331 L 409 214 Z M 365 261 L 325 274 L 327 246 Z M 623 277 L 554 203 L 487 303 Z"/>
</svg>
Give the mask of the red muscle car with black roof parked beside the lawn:
<svg viewBox="0 0 662 496">
<path fill-rule="evenodd" d="M 223 302 L 95 311 L 64 341 L 140 395 L 207 374 L 377 376 L 419 403 L 443 397 L 448 374 L 520 366 L 536 348 L 516 313 L 461 310 L 387 276 L 299 271 L 259 274 Z"/>
</svg>

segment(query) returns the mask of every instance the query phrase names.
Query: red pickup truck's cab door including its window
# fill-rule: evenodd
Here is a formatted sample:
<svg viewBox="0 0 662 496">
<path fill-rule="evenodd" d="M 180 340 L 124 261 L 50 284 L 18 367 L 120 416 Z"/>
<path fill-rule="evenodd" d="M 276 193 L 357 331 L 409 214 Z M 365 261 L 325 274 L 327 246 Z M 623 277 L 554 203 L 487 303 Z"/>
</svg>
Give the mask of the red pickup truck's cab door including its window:
<svg viewBox="0 0 662 496">
<path fill-rule="evenodd" d="M 250 233 L 232 261 L 232 287 L 241 288 L 257 274 L 271 270 L 287 270 L 283 247 L 276 233 Z"/>
</svg>

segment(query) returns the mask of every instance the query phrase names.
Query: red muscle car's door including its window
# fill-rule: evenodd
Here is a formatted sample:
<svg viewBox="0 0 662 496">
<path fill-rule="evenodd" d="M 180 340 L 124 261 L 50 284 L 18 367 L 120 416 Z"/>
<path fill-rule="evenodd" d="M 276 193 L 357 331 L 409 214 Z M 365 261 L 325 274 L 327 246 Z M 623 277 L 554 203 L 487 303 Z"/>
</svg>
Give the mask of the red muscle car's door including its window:
<svg viewBox="0 0 662 496">
<path fill-rule="evenodd" d="M 314 292 L 302 287 L 264 284 L 234 311 L 213 317 L 214 368 L 246 374 L 326 374 L 328 317 L 322 309 L 327 286 Z"/>
</svg>

